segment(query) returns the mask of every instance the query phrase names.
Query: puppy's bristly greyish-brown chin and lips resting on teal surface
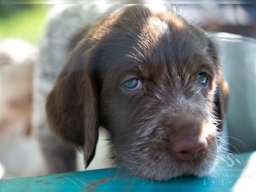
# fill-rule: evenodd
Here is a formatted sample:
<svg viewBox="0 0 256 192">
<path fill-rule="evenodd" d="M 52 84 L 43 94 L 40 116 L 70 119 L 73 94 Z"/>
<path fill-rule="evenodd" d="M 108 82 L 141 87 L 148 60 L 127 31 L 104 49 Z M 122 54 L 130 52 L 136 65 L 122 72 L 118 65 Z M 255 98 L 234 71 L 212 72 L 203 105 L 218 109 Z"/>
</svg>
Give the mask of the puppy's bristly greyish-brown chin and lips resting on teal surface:
<svg viewBox="0 0 256 192">
<path fill-rule="evenodd" d="M 166 181 L 188 175 L 204 177 L 212 171 L 217 154 L 217 142 L 214 140 L 211 141 L 204 154 L 189 162 L 166 151 L 150 148 L 144 151 L 139 149 L 125 151 L 124 155 L 115 158 L 115 161 L 117 165 L 143 179 Z"/>
</svg>

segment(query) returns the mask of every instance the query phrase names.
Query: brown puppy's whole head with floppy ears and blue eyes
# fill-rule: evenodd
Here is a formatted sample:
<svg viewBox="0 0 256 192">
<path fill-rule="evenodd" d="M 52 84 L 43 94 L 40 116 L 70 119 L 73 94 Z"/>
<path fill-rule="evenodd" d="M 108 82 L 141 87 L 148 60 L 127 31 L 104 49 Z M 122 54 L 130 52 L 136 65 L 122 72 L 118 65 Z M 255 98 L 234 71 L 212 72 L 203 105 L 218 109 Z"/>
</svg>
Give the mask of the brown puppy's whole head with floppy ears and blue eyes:
<svg viewBox="0 0 256 192">
<path fill-rule="evenodd" d="M 84 148 L 98 128 L 113 158 L 152 180 L 203 176 L 217 157 L 225 99 L 218 52 L 205 32 L 169 11 L 113 12 L 70 53 L 50 94 L 50 128 Z"/>
</svg>

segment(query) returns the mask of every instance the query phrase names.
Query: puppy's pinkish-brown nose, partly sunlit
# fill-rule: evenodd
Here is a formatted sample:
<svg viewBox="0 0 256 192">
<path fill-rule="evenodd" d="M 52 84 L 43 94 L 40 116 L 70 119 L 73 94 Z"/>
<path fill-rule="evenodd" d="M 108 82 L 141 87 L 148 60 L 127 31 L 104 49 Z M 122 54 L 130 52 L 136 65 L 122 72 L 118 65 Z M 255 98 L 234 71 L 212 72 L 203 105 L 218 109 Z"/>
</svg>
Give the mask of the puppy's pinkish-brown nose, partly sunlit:
<svg viewBox="0 0 256 192">
<path fill-rule="evenodd" d="M 179 158 L 185 161 L 197 158 L 207 146 L 207 140 L 203 136 L 197 138 L 183 137 L 174 140 L 172 143 L 173 151 Z"/>
</svg>

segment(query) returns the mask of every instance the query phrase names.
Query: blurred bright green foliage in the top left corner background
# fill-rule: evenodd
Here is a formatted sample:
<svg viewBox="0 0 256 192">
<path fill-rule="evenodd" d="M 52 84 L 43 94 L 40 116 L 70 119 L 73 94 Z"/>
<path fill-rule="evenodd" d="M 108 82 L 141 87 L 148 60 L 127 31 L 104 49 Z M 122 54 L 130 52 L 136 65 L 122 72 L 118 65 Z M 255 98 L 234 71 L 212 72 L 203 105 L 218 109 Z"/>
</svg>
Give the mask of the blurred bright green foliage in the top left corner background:
<svg viewBox="0 0 256 192">
<path fill-rule="evenodd" d="M 43 33 L 51 4 L 1 4 L 1 40 L 21 38 L 34 45 Z"/>
</svg>

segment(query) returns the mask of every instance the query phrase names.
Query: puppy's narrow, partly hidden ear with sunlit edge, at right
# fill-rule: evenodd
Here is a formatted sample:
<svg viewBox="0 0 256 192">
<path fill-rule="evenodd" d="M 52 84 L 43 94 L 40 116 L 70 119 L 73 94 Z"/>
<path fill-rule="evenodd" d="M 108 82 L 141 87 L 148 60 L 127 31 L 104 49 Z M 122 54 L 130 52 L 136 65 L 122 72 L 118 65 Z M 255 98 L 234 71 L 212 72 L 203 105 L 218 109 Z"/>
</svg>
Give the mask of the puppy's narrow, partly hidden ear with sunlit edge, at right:
<svg viewBox="0 0 256 192">
<path fill-rule="evenodd" d="M 208 39 L 208 53 L 214 63 L 216 64 L 216 68 L 218 70 L 218 82 L 217 82 L 217 90 L 214 95 L 215 100 L 215 112 L 214 114 L 219 120 L 221 120 L 220 124 L 217 125 L 219 130 L 223 129 L 222 120 L 225 118 L 225 112 L 228 107 L 228 100 L 229 100 L 229 91 L 228 91 L 228 84 L 225 81 L 221 67 L 220 67 L 220 59 L 219 59 L 219 48 L 218 46 L 211 40 Z"/>
</svg>

